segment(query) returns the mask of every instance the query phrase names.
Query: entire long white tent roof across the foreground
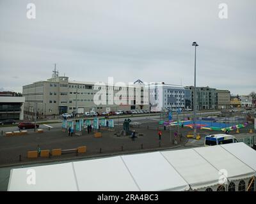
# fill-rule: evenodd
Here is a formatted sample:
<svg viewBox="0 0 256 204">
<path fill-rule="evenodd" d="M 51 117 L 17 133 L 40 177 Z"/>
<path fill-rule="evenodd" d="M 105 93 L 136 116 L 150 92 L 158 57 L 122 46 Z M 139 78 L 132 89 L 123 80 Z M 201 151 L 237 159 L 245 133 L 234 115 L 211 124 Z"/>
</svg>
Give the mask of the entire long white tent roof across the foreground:
<svg viewBox="0 0 256 204">
<path fill-rule="evenodd" d="M 185 191 L 253 177 L 255 150 L 243 143 L 12 169 L 8 191 Z M 254 169 L 254 170 L 253 170 Z M 29 171 L 28 171 L 29 170 Z M 36 184 L 31 181 L 35 172 Z"/>
</svg>

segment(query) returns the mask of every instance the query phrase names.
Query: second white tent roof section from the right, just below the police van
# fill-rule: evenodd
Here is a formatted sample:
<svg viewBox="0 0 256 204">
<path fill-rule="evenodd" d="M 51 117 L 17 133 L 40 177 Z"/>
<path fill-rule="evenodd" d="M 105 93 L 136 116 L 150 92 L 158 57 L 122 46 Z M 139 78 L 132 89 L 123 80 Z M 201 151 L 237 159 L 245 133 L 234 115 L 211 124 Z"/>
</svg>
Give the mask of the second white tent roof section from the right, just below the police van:
<svg viewBox="0 0 256 204">
<path fill-rule="evenodd" d="M 250 147 L 248 147 L 250 148 Z M 223 149 L 220 145 L 209 147 L 195 148 L 202 157 L 212 164 L 220 172 L 227 173 L 225 175 L 228 180 L 240 180 L 253 177 L 255 171 L 245 163 Z"/>
</svg>

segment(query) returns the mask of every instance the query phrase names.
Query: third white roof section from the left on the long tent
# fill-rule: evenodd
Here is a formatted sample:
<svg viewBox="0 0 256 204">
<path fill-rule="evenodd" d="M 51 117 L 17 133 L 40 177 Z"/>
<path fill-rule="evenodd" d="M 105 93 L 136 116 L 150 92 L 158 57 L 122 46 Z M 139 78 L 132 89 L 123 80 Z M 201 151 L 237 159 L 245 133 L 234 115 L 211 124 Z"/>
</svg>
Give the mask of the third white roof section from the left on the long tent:
<svg viewBox="0 0 256 204">
<path fill-rule="evenodd" d="M 122 156 L 141 191 L 185 191 L 187 182 L 160 152 Z"/>
</svg>

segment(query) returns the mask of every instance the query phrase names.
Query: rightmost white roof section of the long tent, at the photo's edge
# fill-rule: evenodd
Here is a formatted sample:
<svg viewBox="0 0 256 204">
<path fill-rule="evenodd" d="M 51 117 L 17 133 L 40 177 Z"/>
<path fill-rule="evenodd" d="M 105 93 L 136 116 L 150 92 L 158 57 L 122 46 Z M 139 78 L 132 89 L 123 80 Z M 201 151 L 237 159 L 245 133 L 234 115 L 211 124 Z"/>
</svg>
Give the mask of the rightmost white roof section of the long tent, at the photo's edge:
<svg viewBox="0 0 256 204">
<path fill-rule="evenodd" d="M 236 156 L 238 159 L 246 163 L 250 168 L 256 171 L 256 151 L 248 148 L 243 142 L 237 142 L 227 145 L 221 145 L 225 150 Z M 256 175 L 256 173 L 255 173 Z"/>
</svg>

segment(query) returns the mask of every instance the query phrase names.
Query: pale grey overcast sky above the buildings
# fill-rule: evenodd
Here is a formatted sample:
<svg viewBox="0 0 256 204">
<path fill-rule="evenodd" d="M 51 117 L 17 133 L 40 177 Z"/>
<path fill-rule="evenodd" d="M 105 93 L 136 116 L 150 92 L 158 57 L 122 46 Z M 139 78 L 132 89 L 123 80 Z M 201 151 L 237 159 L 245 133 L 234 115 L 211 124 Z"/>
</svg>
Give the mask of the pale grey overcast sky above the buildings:
<svg viewBox="0 0 256 204">
<path fill-rule="evenodd" d="M 255 10 L 255 0 L 0 0 L 0 89 L 51 78 L 54 63 L 70 80 L 193 85 L 196 41 L 196 85 L 249 94 Z"/>
</svg>

